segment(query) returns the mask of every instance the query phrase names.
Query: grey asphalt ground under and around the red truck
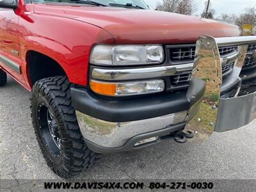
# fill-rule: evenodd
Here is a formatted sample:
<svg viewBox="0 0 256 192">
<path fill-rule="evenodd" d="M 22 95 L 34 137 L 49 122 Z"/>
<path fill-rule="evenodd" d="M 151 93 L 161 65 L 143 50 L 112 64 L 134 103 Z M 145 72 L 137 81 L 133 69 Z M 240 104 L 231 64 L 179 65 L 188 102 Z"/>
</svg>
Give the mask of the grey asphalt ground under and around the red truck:
<svg viewBox="0 0 256 192">
<path fill-rule="evenodd" d="M 0 88 L 0 179 L 59 179 L 42 156 L 30 117 L 30 93 L 8 77 Z M 102 156 L 75 179 L 256 179 L 256 121 L 205 143 L 166 141 Z M 5 190 L 4 190 L 5 191 Z"/>
</svg>

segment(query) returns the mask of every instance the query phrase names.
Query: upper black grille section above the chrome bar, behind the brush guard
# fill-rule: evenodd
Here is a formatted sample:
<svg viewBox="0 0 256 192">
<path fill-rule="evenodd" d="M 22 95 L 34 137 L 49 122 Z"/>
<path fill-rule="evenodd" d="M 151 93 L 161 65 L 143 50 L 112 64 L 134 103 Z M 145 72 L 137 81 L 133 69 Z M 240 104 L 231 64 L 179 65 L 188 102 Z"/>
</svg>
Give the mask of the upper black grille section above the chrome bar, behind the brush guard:
<svg viewBox="0 0 256 192">
<path fill-rule="evenodd" d="M 182 45 L 180 45 L 182 46 Z M 195 45 L 186 45 L 184 47 L 173 46 L 170 48 L 170 60 L 173 62 L 193 62 L 195 60 Z M 220 56 L 224 57 L 238 51 L 237 46 L 220 47 Z"/>
</svg>

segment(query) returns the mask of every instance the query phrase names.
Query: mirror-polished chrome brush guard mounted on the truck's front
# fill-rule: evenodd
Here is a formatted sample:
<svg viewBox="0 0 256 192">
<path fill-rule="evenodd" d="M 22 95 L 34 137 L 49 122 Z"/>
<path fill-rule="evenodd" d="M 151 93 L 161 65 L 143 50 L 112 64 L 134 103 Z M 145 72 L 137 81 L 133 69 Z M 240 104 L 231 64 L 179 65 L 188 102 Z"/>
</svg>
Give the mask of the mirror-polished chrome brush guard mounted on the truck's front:
<svg viewBox="0 0 256 192">
<path fill-rule="evenodd" d="M 194 143 L 207 140 L 212 132 L 224 132 L 249 124 L 256 117 L 256 92 L 238 97 L 239 88 L 234 97 L 222 99 L 221 63 L 218 47 L 239 46 L 239 55 L 234 72 L 239 77 L 246 57 L 248 44 L 256 42 L 256 36 L 237 36 L 213 38 L 201 36 L 196 42 L 196 57 L 187 97 L 191 102 L 188 114 L 187 130 L 195 133 Z M 195 98 L 196 84 L 204 83 L 205 92 L 199 102 Z"/>
</svg>

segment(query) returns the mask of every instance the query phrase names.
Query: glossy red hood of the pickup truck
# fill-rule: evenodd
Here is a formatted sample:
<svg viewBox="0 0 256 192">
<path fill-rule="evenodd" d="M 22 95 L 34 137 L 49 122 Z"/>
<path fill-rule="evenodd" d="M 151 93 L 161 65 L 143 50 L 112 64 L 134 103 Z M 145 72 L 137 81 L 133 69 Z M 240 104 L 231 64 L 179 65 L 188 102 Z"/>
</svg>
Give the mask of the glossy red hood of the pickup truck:
<svg viewBox="0 0 256 192">
<path fill-rule="evenodd" d="M 34 12 L 86 22 L 108 31 L 117 44 L 175 44 L 199 36 L 239 36 L 237 26 L 214 20 L 151 10 L 103 6 L 35 4 Z"/>
</svg>

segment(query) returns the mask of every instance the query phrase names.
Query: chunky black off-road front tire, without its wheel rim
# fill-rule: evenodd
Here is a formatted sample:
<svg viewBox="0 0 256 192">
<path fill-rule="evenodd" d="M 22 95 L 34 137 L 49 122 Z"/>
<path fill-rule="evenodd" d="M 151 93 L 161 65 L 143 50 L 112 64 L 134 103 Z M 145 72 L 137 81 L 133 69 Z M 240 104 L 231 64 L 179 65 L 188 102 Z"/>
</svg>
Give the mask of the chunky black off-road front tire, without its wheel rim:
<svg viewBox="0 0 256 192">
<path fill-rule="evenodd" d="M 99 160 L 99 154 L 92 152 L 84 143 L 75 110 L 71 106 L 71 86 L 65 76 L 49 77 L 37 81 L 31 93 L 31 117 L 42 154 L 52 171 L 66 179 L 87 170 Z M 44 102 L 56 118 L 61 136 L 58 156 L 45 145 L 38 120 L 40 102 Z"/>
</svg>

